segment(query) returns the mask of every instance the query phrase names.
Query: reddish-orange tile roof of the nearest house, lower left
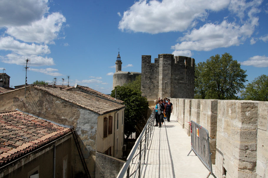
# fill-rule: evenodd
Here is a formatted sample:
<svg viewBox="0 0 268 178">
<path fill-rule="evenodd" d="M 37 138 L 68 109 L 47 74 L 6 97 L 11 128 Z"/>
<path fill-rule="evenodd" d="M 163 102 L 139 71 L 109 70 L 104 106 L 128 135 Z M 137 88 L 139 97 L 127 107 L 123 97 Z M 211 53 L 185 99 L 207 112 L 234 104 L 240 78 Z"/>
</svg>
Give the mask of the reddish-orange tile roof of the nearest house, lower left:
<svg viewBox="0 0 268 178">
<path fill-rule="evenodd" d="M 70 132 L 28 113 L 1 112 L 0 167 Z"/>
</svg>

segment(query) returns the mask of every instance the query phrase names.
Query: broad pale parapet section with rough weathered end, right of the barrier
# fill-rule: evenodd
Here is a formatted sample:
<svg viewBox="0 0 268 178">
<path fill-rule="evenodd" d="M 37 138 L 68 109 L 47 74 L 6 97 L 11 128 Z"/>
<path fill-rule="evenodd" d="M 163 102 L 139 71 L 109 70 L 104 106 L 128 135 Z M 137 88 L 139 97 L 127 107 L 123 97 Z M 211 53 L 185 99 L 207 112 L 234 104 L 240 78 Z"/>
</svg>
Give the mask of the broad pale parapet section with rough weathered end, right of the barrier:
<svg viewBox="0 0 268 178">
<path fill-rule="evenodd" d="M 216 176 L 256 177 L 257 101 L 219 100 Z"/>
</svg>

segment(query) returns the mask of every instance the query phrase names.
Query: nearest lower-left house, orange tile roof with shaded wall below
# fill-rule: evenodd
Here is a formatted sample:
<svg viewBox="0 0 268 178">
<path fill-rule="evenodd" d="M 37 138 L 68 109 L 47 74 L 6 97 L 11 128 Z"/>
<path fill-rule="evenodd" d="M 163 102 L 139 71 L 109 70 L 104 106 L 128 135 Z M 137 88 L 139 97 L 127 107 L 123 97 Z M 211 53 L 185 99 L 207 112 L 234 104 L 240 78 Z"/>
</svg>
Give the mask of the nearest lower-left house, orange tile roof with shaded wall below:
<svg viewBox="0 0 268 178">
<path fill-rule="evenodd" d="M 70 128 L 18 110 L 1 112 L 0 177 L 70 178 L 71 144 Z"/>
</svg>

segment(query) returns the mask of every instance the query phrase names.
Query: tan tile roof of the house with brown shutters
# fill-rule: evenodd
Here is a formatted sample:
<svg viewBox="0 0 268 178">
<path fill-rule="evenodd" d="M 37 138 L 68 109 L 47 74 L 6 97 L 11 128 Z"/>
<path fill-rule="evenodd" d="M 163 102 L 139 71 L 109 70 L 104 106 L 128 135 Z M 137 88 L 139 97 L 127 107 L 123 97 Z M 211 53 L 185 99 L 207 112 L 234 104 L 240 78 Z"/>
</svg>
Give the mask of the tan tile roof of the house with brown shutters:
<svg viewBox="0 0 268 178">
<path fill-rule="evenodd" d="M 98 95 L 97 93 L 89 94 L 83 91 L 68 90 L 71 89 L 72 87 L 69 87 L 67 89 L 43 87 L 37 85 L 34 85 L 33 87 L 40 89 L 42 91 L 46 91 L 49 94 L 57 96 L 61 99 L 69 101 L 83 108 L 89 109 L 90 111 L 96 112 L 98 114 L 104 114 L 111 111 L 116 111 L 118 109 L 122 109 L 125 107 L 124 105 L 114 101 L 113 97 L 107 97 L 107 96 L 103 97 L 104 94 Z M 87 89 L 92 90 L 90 88 Z"/>
</svg>

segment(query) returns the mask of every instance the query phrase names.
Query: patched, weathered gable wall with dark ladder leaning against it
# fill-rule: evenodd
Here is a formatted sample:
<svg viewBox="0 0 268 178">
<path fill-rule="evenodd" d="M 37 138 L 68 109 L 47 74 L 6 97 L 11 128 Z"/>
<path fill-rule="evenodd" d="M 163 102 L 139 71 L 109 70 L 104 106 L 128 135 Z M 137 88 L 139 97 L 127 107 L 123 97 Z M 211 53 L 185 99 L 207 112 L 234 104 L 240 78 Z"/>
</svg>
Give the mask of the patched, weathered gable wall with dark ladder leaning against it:
<svg viewBox="0 0 268 178">
<path fill-rule="evenodd" d="M 78 140 L 88 169 L 91 174 L 94 174 L 99 115 L 34 87 L 27 87 L 26 92 L 26 98 L 24 98 L 24 89 L 1 94 L 0 101 L 4 105 L 0 105 L 0 111 L 19 109 L 59 124 L 74 126 L 79 135 Z M 72 149 L 76 150 L 75 147 Z M 80 157 L 76 152 L 75 154 L 72 159 L 74 172 L 82 168 Z"/>
</svg>

